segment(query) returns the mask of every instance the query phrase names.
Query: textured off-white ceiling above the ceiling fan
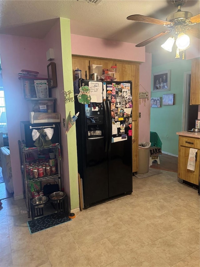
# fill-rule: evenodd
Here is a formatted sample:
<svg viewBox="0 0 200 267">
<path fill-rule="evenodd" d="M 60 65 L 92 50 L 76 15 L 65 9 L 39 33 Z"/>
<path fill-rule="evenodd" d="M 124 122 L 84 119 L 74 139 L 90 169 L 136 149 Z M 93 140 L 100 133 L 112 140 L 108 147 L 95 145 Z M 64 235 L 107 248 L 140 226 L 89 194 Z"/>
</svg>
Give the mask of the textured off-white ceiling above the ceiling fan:
<svg viewBox="0 0 200 267">
<path fill-rule="evenodd" d="M 43 38 L 62 17 L 70 19 L 71 33 L 138 44 L 166 28 L 161 25 L 133 22 L 133 14 L 165 20 L 177 8 L 165 0 L 102 0 L 99 4 L 83 0 L 0 1 L 0 33 Z M 188 0 L 182 7 L 193 15 L 200 13 L 200 1 Z M 197 25 L 199 27 L 199 24 Z M 169 36 L 146 46 L 146 52 L 159 53 Z"/>
</svg>

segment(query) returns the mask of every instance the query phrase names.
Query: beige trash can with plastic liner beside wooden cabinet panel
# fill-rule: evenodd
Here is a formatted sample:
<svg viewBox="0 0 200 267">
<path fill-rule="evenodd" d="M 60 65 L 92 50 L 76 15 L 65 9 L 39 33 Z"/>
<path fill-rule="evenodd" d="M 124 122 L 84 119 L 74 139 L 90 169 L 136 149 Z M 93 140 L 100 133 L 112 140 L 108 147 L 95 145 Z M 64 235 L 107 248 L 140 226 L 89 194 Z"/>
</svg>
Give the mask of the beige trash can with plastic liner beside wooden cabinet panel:
<svg viewBox="0 0 200 267">
<path fill-rule="evenodd" d="M 151 142 L 143 142 L 139 147 L 139 166 L 137 173 L 147 173 L 149 171 L 149 149 Z"/>
</svg>

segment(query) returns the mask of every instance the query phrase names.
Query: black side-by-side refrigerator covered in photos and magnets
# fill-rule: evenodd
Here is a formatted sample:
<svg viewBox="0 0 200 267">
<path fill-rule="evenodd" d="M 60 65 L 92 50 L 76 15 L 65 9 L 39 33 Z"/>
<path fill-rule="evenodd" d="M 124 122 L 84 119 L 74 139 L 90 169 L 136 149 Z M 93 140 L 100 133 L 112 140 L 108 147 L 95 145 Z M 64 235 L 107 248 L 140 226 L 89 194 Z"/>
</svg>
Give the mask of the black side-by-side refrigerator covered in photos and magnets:
<svg viewBox="0 0 200 267">
<path fill-rule="evenodd" d="M 133 192 L 132 82 L 79 79 L 77 88 L 78 172 L 84 207 L 88 208 Z"/>
</svg>

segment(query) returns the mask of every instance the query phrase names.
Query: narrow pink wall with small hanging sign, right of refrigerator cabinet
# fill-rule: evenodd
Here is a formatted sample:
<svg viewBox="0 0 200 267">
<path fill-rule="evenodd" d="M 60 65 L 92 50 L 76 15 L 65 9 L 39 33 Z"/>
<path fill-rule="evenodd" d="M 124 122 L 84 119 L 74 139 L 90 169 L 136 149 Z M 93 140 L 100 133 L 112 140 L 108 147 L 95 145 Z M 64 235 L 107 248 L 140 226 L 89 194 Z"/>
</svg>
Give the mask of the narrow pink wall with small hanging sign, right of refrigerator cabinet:
<svg viewBox="0 0 200 267">
<path fill-rule="evenodd" d="M 139 105 L 139 143 L 150 140 L 150 99 L 151 99 L 151 66 L 152 54 L 145 53 L 145 62 L 140 64 L 140 86 L 139 92 L 147 91 L 149 93 L 149 100 L 146 99 L 146 106 L 144 100 L 141 99 Z"/>
</svg>

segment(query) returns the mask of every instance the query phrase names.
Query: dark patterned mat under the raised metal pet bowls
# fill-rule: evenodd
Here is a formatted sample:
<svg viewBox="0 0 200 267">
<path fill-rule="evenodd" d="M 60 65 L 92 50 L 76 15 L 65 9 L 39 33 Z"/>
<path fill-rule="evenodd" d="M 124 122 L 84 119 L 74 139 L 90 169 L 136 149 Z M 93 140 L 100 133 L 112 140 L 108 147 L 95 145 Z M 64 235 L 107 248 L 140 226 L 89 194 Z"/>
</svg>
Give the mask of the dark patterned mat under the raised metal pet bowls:
<svg viewBox="0 0 200 267">
<path fill-rule="evenodd" d="M 36 218 L 34 221 L 35 223 L 33 223 L 32 220 L 27 222 L 30 234 L 34 234 L 61 223 L 66 223 L 68 221 L 71 221 L 71 219 L 68 216 L 58 218 L 57 213 L 53 213 L 47 216 Z"/>
</svg>

